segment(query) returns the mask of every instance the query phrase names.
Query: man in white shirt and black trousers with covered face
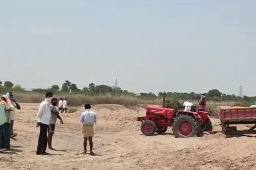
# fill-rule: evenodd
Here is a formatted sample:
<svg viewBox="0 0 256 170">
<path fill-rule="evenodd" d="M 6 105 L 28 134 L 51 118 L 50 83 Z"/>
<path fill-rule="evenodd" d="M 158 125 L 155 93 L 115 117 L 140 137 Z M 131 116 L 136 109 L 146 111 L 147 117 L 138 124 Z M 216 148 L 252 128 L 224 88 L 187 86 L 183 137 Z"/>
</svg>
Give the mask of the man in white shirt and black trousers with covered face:
<svg viewBox="0 0 256 170">
<path fill-rule="evenodd" d="M 37 113 L 38 122 L 37 127 L 40 126 L 40 133 L 38 138 L 37 144 L 37 155 L 48 155 L 49 153 L 46 152 L 47 148 L 47 129 L 50 122 L 51 117 L 51 101 L 52 101 L 53 94 L 51 92 L 47 92 L 45 94 L 45 100 L 40 103 L 39 110 Z"/>
</svg>

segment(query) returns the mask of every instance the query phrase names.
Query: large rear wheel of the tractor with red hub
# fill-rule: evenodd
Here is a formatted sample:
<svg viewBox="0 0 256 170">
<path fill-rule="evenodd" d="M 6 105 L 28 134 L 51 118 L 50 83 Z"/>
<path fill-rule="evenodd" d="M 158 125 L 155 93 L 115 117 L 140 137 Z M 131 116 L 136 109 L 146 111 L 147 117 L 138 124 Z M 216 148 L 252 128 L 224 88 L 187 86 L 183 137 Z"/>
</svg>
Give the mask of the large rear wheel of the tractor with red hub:
<svg viewBox="0 0 256 170">
<path fill-rule="evenodd" d="M 173 133 L 175 137 L 193 137 L 199 131 L 199 121 L 191 115 L 180 115 L 173 122 Z"/>
</svg>

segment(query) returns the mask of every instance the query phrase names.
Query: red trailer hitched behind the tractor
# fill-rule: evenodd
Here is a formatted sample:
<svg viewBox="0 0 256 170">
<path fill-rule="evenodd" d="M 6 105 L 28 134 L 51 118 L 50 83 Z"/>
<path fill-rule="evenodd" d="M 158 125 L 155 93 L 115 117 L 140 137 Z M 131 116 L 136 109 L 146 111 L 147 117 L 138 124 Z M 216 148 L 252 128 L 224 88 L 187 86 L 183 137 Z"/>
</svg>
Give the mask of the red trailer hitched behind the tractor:
<svg viewBox="0 0 256 170">
<path fill-rule="evenodd" d="M 220 122 L 222 133 L 234 134 L 256 134 L 256 108 L 231 108 L 220 110 Z M 237 130 L 238 124 L 254 124 L 247 130 Z"/>
</svg>

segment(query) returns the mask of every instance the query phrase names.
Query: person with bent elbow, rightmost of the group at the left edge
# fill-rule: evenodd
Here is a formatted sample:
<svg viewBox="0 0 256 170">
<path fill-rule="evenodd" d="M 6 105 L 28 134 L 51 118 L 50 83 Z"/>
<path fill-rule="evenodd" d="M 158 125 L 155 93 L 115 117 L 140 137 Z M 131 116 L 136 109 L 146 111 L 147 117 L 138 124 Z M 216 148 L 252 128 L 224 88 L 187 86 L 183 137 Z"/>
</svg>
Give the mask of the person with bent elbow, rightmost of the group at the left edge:
<svg viewBox="0 0 256 170">
<path fill-rule="evenodd" d="M 18 104 L 18 102 L 16 102 L 16 100 L 13 98 L 13 94 L 12 92 L 8 92 L 6 93 L 6 96 L 8 97 L 8 99 L 10 99 L 10 103 L 7 103 L 8 105 L 12 105 L 13 108 L 16 108 L 18 110 L 20 110 L 20 105 Z M 8 101 L 7 101 L 8 102 Z M 14 125 L 14 114 L 15 114 L 15 109 L 13 109 L 11 111 L 11 127 L 10 127 L 10 137 L 13 138 L 15 136 L 17 136 L 17 133 L 13 133 L 13 125 Z"/>
</svg>

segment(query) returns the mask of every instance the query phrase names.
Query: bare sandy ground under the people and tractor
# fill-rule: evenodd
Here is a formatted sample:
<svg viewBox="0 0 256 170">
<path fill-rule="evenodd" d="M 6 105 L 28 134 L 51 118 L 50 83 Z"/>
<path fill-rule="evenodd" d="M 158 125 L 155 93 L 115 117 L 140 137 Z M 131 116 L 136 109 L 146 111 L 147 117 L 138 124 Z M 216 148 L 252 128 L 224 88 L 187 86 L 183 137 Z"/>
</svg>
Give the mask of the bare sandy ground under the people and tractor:
<svg viewBox="0 0 256 170">
<path fill-rule="evenodd" d="M 35 127 L 38 104 L 21 104 L 15 117 L 16 140 L 11 150 L 0 153 L 1 170 L 255 170 L 254 136 L 225 136 L 205 133 L 202 137 L 175 138 L 165 134 L 144 136 L 137 111 L 119 105 L 96 105 L 94 152 L 83 155 L 79 116 L 62 114 L 64 125 L 56 126 L 51 155 L 36 155 L 39 128 Z M 139 108 L 140 115 L 145 114 Z M 213 123 L 218 122 L 212 119 Z M 244 127 L 239 127 L 244 128 Z M 214 128 L 220 130 L 220 126 Z M 89 146 L 88 146 L 89 147 Z M 89 149 L 89 148 L 88 148 Z M 61 151 L 62 150 L 62 151 Z"/>
</svg>

